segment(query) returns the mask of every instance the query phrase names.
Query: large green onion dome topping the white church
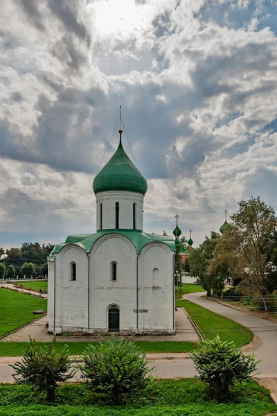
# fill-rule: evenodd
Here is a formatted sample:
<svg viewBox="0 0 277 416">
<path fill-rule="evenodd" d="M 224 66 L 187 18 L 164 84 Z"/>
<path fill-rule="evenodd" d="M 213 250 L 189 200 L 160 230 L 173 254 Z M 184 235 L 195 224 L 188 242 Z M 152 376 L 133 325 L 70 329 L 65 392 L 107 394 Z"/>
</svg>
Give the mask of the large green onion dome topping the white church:
<svg viewBox="0 0 277 416">
<path fill-rule="evenodd" d="M 109 162 L 93 180 L 94 193 L 103 191 L 132 191 L 145 195 L 147 182 L 141 172 L 126 155 L 121 144 Z"/>
</svg>

